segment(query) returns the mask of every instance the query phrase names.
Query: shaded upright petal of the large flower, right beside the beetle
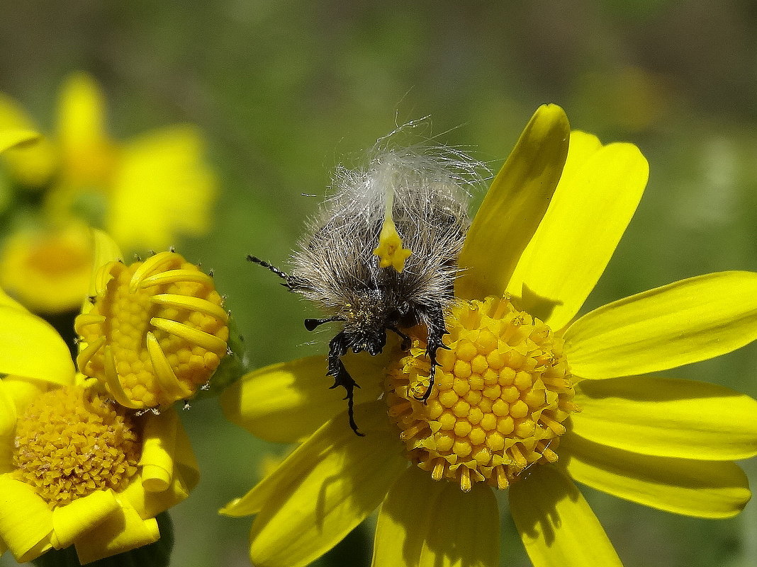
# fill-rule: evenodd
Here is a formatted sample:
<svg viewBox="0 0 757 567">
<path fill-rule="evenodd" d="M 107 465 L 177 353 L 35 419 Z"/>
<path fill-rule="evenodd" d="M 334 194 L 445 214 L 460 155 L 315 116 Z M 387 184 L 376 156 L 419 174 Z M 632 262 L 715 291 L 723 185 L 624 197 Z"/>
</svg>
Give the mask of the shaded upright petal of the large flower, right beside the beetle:
<svg viewBox="0 0 757 567">
<path fill-rule="evenodd" d="M 459 256 L 455 295 L 501 296 L 521 253 L 544 217 L 568 153 L 570 125 L 545 104 L 526 125 L 481 203 Z"/>
</svg>

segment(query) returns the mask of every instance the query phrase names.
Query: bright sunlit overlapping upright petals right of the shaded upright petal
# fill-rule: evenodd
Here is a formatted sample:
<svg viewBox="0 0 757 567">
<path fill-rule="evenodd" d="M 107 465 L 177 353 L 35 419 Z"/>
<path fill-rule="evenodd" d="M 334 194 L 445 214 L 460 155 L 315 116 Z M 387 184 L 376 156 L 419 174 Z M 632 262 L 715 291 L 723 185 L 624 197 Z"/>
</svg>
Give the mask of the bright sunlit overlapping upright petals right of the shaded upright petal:
<svg viewBox="0 0 757 567">
<path fill-rule="evenodd" d="M 603 146 L 571 132 L 550 207 L 507 287 L 520 308 L 553 329 L 569 323 L 615 252 L 649 172 L 634 144 Z"/>
</svg>

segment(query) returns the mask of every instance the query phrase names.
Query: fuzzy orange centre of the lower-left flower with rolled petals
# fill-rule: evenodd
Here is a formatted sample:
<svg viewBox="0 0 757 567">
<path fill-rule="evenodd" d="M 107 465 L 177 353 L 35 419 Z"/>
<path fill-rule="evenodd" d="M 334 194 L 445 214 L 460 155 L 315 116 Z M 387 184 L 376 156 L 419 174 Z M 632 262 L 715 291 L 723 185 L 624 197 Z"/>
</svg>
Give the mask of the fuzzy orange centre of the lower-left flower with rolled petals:
<svg viewBox="0 0 757 567">
<path fill-rule="evenodd" d="M 17 422 L 14 476 L 51 509 L 94 491 L 119 491 L 137 472 L 140 443 L 123 408 L 83 387 L 46 392 Z"/>
</svg>

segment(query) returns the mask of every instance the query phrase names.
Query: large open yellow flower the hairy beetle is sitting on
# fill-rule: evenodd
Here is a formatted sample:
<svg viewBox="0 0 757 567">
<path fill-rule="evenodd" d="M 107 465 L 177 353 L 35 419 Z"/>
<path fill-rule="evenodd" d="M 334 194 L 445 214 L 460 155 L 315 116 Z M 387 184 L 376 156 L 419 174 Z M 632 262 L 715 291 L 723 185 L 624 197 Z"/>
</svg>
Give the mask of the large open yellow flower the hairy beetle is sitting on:
<svg viewBox="0 0 757 567">
<path fill-rule="evenodd" d="M 757 402 L 721 386 L 641 376 L 757 338 L 757 274 L 709 274 L 575 320 L 646 185 L 631 144 L 570 132 L 540 107 L 466 237 L 427 404 L 422 330 L 410 352 L 352 356 L 355 418 L 305 358 L 243 376 L 230 420 L 301 445 L 222 510 L 255 514 L 254 565 L 299 567 L 381 505 L 373 565 L 497 565 L 494 491 L 534 565 L 620 565 L 574 480 L 689 516 L 749 500 L 734 460 L 757 454 Z M 388 349 L 388 351 L 391 349 Z"/>
</svg>

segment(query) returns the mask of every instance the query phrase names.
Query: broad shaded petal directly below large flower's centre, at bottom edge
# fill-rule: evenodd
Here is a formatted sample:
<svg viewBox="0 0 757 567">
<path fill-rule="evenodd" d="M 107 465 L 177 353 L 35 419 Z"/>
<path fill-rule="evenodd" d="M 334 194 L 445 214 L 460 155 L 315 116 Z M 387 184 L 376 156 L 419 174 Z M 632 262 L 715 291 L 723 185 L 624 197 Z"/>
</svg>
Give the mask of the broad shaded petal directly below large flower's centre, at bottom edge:
<svg viewBox="0 0 757 567">
<path fill-rule="evenodd" d="M 378 513 L 372 567 L 499 565 L 500 515 L 491 487 L 465 493 L 410 466 Z"/>
</svg>

